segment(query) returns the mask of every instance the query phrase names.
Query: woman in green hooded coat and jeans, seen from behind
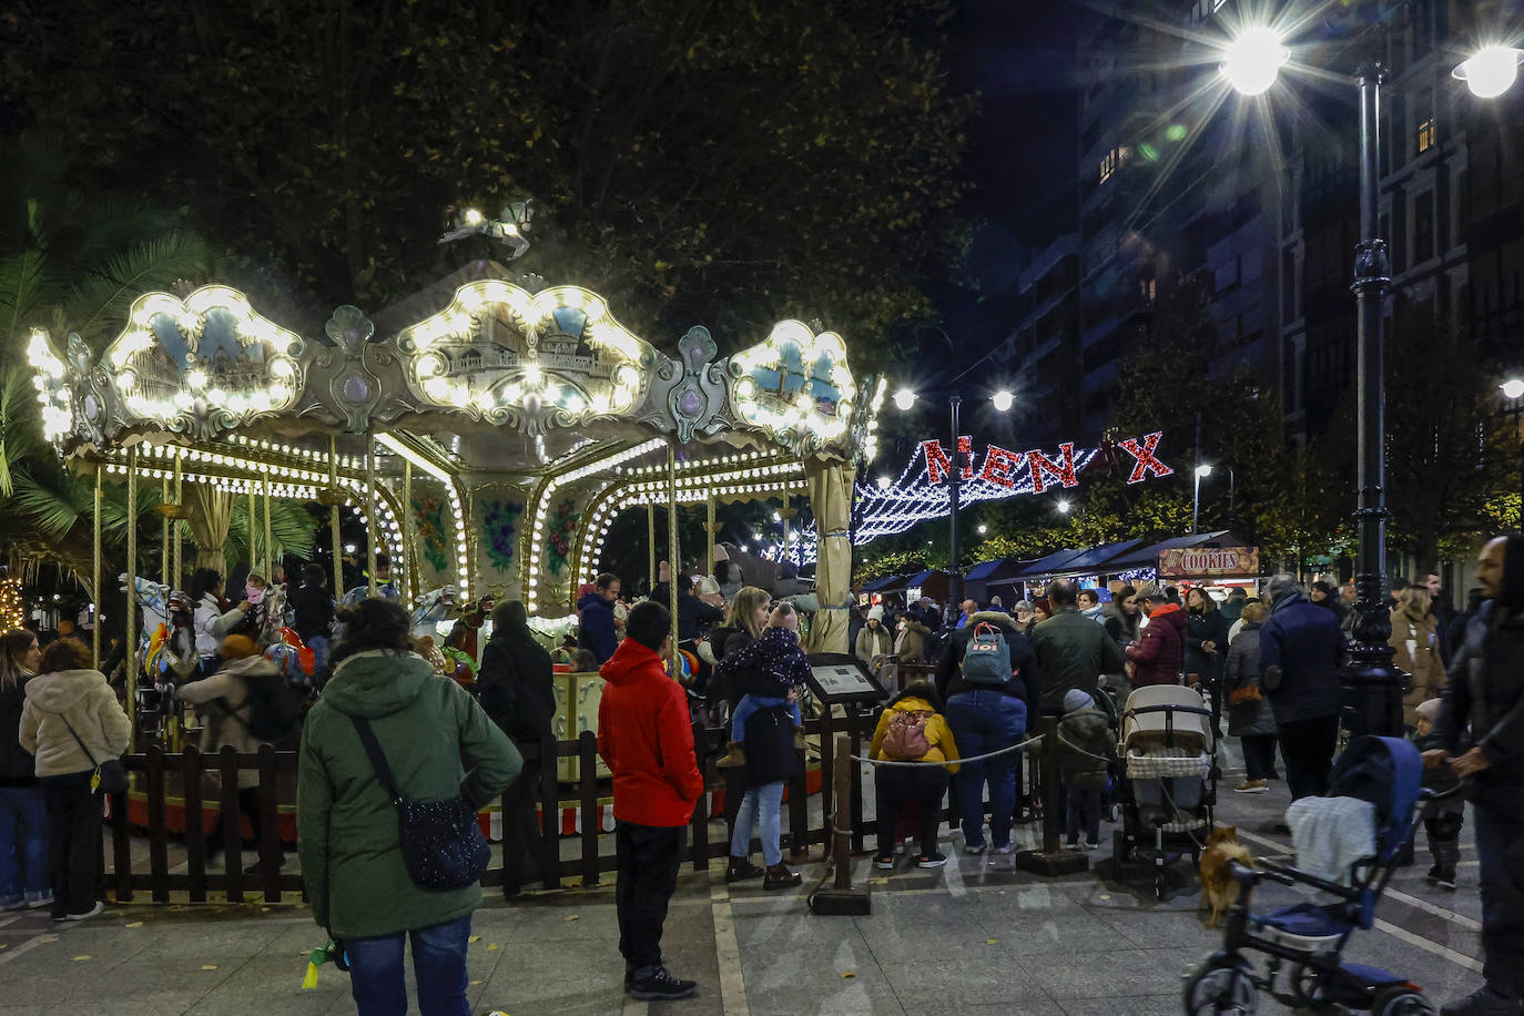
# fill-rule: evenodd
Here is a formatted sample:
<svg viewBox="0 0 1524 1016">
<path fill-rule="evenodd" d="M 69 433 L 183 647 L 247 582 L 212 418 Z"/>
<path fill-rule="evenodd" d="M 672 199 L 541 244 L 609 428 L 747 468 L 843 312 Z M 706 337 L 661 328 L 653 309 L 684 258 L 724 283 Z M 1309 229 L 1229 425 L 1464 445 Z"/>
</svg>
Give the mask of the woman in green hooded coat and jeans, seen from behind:
<svg viewBox="0 0 1524 1016">
<path fill-rule="evenodd" d="M 407 1011 L 404 937 L 413 941 L 424 1016 L 469 1016 L 466 941 L 482 887 L 413 883 L 396 809 L 352 717 L 369 720 L 398 792 L 411 801 L 465 795 L 482 807 L 518 777 L 523 759 L 465 689 L 408 652 L 401 606 L 361 600 L 340 620 L 344 640 L 302 730 L 297 775 L 297 848 L 312 917 L 343 941 L 360 1016 Z"/>
</svg>

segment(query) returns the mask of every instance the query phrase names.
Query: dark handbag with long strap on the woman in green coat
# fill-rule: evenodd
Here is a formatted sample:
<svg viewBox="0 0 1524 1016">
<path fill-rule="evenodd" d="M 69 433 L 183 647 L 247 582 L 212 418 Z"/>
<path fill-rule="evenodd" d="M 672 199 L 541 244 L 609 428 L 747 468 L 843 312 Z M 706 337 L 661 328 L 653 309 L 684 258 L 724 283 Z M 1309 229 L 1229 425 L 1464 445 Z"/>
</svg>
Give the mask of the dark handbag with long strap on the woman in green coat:
<svg viewBox="0 0 1524 1016">
<path fill-rule="evenodd" d="M 351 716 L 349 720 L 370 756 L 376 780 L 396 807 L 398 845 L 413 885 L 445 893 L 480 882 L 492 859 L 492 848 L 482 835 L 471 803 L 459 794 L 443 801 L 410 801 L 402 797 L 370 722 L 360 716 Z"/>
</svg>

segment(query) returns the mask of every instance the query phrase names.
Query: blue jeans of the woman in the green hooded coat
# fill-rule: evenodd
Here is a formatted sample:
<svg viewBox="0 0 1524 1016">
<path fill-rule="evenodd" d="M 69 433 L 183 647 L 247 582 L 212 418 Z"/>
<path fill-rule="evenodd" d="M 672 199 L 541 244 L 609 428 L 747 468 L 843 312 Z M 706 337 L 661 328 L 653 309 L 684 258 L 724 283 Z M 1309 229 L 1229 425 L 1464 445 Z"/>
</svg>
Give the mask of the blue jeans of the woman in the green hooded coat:
<svg viewBox="0 0 1524 1016">
<path fill-rule="evenodd" d="M 466 941 L 471 915 L 433 928 L 375 938 L 344 938 L 349 986 L 360 1016 L 407 1016 L 402 938 L 413 940 L 418 1011 L 424 1016 L 471 1016 L 466 1001 Z"/>
</svg>

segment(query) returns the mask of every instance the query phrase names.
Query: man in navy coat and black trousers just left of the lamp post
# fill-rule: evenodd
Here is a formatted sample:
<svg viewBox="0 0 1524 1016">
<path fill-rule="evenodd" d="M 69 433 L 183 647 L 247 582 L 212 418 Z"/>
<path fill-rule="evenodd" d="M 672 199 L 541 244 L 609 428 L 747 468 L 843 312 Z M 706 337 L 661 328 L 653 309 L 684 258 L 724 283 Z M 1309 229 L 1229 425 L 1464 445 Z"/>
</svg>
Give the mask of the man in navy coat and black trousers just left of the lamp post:
<svg viewBox="0 0 1524 1016">
<path fill-rule="evenodd" d="M 1338 711 L 1344 701 L 1340 667 L 1347 649 L 1338 615 L 1301 594 L 1292 574 L 1266 586 L 1269 620 L 1260 629 L 1260 685 L 1269 692 L 1286 763 L 1291 800 L 1327 791 Z"/>
</svg>

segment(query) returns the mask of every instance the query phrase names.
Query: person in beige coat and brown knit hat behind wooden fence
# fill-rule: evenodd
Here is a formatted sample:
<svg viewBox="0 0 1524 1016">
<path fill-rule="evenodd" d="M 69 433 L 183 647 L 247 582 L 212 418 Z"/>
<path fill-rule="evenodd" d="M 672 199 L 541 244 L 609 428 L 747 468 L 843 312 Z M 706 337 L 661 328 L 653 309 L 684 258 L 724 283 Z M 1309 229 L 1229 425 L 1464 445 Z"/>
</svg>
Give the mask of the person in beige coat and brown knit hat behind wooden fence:
<svg viewBox="0 0 1524 1016">
<path fill-rule="evenodd" d="M 195 705 L 201 717 L 201 751 L 215 756 L 224 746 L 232 746 L 239 754 L 255 754 L 259 751 L 259 739 L 248 730 L 253 722 L 253 707 L 250 705 L 250 681 L 279 678 L 280 667 L 273 660 L 259 655 L 255 641 L 247 635 L 229 635 L 218 647 L 223 660 L 221 669 L 210 678 L 192 681 L 180 689 L 180 698 Z M 216 772 L 212 772 L 212 783 L 221 788 Z M 238 771 L 238 810 L 248 816 L 248 827 L 259 842 L 259 771 Z M 212 861 L 223 850 L 226 836 L 223 835 L 223 812 L 216 813 L 212 832 L 206 835 L 206 859 Z M 238 821 L 236 818 L 233 821 Z M 250 865 L 248 874 L 255 874 L 259 865 Z"/>
</svg>

